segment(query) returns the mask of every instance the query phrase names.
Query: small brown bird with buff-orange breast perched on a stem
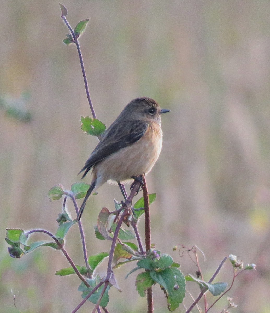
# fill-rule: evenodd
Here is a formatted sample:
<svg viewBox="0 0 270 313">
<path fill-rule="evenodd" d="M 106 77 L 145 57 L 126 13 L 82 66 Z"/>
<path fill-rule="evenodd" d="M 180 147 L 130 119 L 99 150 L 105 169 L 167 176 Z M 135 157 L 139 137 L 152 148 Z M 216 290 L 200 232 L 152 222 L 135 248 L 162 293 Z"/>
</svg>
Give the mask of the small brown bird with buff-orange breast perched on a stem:
<svg viewBox="0 0 270 313">
<path fill-rule="evenodd" d="M 126 105 L 106 129 L 80 171 L 85 171 L 84 178 L 93 168 L 93 179 L 77 221 L 89 196 L 105 182 L 117 182 L 121 186 L 121 182 L 128 182 L 151 171 L 162 146 L 160 114 L 169 111 L 160 109 L 157 102 L 148 97 L 136 98 Z"/>
</svg>

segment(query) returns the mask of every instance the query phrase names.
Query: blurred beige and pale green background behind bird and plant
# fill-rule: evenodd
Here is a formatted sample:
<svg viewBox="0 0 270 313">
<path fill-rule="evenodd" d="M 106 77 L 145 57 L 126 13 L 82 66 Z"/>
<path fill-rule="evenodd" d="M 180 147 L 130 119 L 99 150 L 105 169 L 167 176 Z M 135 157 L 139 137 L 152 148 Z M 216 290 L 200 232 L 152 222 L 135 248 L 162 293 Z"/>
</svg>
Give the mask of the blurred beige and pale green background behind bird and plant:
<svg viewBox="0 0 270 313">
<path fill-rule="evenodd" d="M 184 249 L 196 244 L 209 280 L 229 255 L 257 264 L 245 271 L 227 296 L 235 313 L 270 312 L 270 2 L 86 1 L 65 0 L 68 20 L 91 18 L 80 38 L 92 102 L 107 126 L 133 98 L 146 95 L 171 112 L 162 116 L 164 145 L 147 176 L 152 242 L 181 263 L 186 275 L 195 267 Z M 40 248 L 12 259 L 6 228 L 45 228 L 55 233 L 61 200 L 46 194 L 65 188 L 97 144 L 80 130 L 80 116 L 91 115 L 74 45 L 58 1 L 2 0 L 0 11 L 0 302 L 2 312 L 64 313 L 80 302 L 80 281 L 55 276 L 68 266 L 64 256 Z M 86 182 L 91 181 L 87 175 Z M 137 198 L 140 198 L 140 193 Z M 82 221 L 88 254 L 108 251 L 93 226 L 102 207 L 121 200 L 116 186 L 104 185 L 86 206 Z M 72 203 L 68 203 L 75 218 Z M 143 237 L 144 223 L 140 232 Z M 36 236 L 34 239 L 47 239 Z M 66 237 L 75 264 L 83 264 L 77 227 Z M 183 256 L 182 256 L 183 254 Z M 143 312 L 146 298 L 135 288 L 134 264 L 115 271 L 123 292 L 109 292 L 110 312 Z M 105 275 L 106 262 L 99 268 Z M 232 279 L 229 262 L 216 281 Z M 193 297 L 197 285 L 187 286 Z M 256 292 L 254 292 L 256 290 Z M 208 295 L 212 303 L 215 299 Z M 189 294 L 185 305 L 192 303 Z M 154 287 L 155 312 L 167 302 Z M 88 302 L 80 312 L 89 312 Z M 180 305 L 178 312 L 184 310 Z M 195 308 L 193 312 L 198 312 Z"/>
</svg>

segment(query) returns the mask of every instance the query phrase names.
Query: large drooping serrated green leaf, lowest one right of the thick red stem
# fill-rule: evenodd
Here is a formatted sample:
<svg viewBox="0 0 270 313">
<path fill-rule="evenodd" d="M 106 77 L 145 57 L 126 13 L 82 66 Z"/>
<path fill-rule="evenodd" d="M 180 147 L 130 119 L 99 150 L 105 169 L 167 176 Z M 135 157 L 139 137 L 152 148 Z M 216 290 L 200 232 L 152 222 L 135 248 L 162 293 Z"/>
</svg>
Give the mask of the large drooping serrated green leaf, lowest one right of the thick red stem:
<svg viewBox="0 0 270 313">
<path fill-rule="evenodd" d="M 179 304 L 183 302 L 186 292 L 186 281 L 183 273 L 179 269 L 176 267 L 172 267 L 171 269 L 174 273 L 175 285 L 168 295 L 168 305 L 169 310 L 174 311 L 179 307 Z"/>
</svg>

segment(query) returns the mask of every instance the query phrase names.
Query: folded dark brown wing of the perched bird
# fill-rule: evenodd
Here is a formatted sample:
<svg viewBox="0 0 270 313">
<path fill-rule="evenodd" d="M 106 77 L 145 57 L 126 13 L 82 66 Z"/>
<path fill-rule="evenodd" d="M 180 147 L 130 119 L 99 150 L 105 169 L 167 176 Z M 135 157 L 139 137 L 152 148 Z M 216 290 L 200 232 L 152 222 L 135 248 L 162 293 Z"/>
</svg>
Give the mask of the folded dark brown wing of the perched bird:
<svg viewBox="0 0 270 313">
<path fill-rule="evenodd" d="M 113 123 L 107 129 L 101 141 L 86 161 L 85 166 L 80 171 L 80 173 L 85 171 L 82 178 L 86 176 L 87 172 L 96 163 L 142 138 L 147 128 L 148 123 L 146 121 L 127 121 L 126 123 L 124 121 L 122 124 Z"/>
</svg>

